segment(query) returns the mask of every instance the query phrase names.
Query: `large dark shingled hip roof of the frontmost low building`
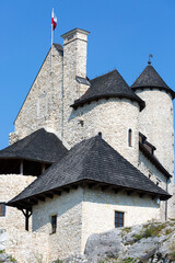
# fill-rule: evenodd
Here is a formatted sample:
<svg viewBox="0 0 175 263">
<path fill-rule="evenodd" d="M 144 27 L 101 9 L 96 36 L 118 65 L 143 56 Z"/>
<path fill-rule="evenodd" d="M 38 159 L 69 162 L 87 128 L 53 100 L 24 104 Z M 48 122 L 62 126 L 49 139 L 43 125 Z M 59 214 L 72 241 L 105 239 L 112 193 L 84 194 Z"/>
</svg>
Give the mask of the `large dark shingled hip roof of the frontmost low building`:
<svg viewBox="0 0 175 263">
<path fill-rule="evenodd" d="M 39 196 L 78 182 L 93 181 L 133 190 L 162 199 L 171 197 L 150 179 L 114 150 L 101 136 L 75 145 L 57 163 L 52 164 L 20 195 L 9 202 L 18 206 L 21 201 Z"/>
</svg>

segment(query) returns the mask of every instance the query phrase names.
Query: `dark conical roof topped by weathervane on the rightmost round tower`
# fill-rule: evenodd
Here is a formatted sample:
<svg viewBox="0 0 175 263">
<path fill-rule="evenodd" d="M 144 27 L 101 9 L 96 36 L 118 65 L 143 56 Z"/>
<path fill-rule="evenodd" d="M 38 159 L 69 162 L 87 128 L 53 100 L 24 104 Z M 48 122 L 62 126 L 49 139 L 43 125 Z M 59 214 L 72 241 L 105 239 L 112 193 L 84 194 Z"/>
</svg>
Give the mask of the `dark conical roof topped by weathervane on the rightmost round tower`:
<svg viewBox="0 0 175 263">
<path fill-rule="evenodd" d="M 155 88 L 160 90 L 167 91 L 175 98 L 175 92 L 163 81 L 156 70 L 148 65 L 139 78 L 131 85 L 132 90 L 144 89 L 144 88 Z"/>
</svg>

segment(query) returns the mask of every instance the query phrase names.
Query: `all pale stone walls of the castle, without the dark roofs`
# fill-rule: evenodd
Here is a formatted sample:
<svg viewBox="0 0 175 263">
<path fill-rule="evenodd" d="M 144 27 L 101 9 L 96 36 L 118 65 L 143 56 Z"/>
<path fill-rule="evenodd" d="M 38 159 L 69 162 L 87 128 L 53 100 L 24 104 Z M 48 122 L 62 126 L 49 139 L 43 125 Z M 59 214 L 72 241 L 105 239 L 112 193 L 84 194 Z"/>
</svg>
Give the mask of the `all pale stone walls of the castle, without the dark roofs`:
<svg viewBox="0 0 175 263">
<path fill-rule="evenodd" d="M 62 35 L 63 53 L 52 45 L 52 71 L 50 72 L 49 50 L 16 116 L 15 130 L 9 136 L 10 145 L 44 127 L 55 133 L 70 149 L 77 142 L 101 132 L 103 138 L 114 149 L 144 175 L 150 176 L 150 180 L 155 183 L 159 181 L 159 185 L 173 195 L 174 126 L 173 104 L 168 93 L 160 90 L 137 90 L 136 93 L 145 102 L 145 108 L 141 112 L 137 102 L 117 98 L 101 99 L 77 110 L 70 106 L 89 89 L 89 85 L 80 84 L 75 80 L 77 76 L 86 78 L 88 34 L 86 31 L 75 28 Z M 131 147 L 128 147 L 129 129 L 132 130 Z M 166 178 L 139 152 L 139 132 L 156 147 L 155 157 L 173 175 L 171 180 L 166 181 Z M 19 174 L 0 175 L 1 201 L 11 199 L 34 179 Z M 8 193 L 1 185 L 12 191 Z M 0 218 L 0 228 L 10 229 L 8 252 L 20 263 L 24 263 L 27 243 L 30 248 L 27 259 L 30 254 L 34 254 L 31 258 L 33 262 L 34 258 L 40 254 L 46 262 L 51 262 L 57 258 L 68 256 L 70 252 L 83 253 L 85 241 L 91 233 L 114 228 L 115 210 L 125 213 L 125 226 L 142 224 L 152 218 L 165 219 L 165 202 L 159 203 L 149 196 L 130 197 L 125 192 L 116 195 L 79 187 L 69 194 L 63 193 L 57 198 L 55 196 L 46 201 L 45 203 L 40 201 L 33 207 L 34 233 L 22 230 L 24 217 L 15 208 L 8 207 L 7 217 Z M 168 217 L 175 217 L 174 211 L 174 198 L 171 198 L 167 202 Z M 50 235 L 52 215 L 58 215 L 58 231 Z M 102 218 L 105 218 L 105 222 L 101 220 Z M 24 244 L 22 239 L 26 240 Z M 39 247 L 40 241 L 44 243 L 43 248 Z M 18 250 L 18 245 L 21 250 Z"/>
</svg>

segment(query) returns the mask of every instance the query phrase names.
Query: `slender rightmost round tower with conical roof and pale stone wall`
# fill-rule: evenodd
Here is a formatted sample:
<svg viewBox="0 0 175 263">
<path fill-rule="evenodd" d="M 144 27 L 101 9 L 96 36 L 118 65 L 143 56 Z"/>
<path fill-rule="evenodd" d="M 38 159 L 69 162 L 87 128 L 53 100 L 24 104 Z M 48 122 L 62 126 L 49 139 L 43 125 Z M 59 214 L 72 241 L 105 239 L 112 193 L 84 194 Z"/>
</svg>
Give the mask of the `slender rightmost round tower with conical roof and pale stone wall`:
<svg viewBox="0 0 175 263">
<path fill-rule="evenodd" d="M 131 88 L 145 102 L 145 107 L 139 114 L 139 132 L 156 148 L 154 156 L 172 175 L 166 181 L 166 191 L 173 195 L 175 92 L 163 81 L 150 61 Z M 173 198 L 167 203 L 167 215 L 174 218 Z"/>
</svg>

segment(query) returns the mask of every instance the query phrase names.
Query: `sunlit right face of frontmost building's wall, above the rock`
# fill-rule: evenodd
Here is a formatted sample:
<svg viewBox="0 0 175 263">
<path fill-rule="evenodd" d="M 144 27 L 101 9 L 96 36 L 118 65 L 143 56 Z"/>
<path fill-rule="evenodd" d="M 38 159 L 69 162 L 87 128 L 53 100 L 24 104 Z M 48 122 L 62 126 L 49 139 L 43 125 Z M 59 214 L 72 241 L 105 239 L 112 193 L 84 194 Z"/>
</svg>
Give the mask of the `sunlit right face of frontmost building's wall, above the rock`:
<svg viewBox="0 0 175 263">
<path fill-rule="evenodd" d="M 115 211 L 125 213 L 125 227 L 160 219 L 158 199 L 152 199 L 151 196 L 128 196 L 125 192 L 115 194 L 86 188 L 82 206 L 82 252 L 90 235 L 108 231 L 115 227 Z"/>
</svg>

